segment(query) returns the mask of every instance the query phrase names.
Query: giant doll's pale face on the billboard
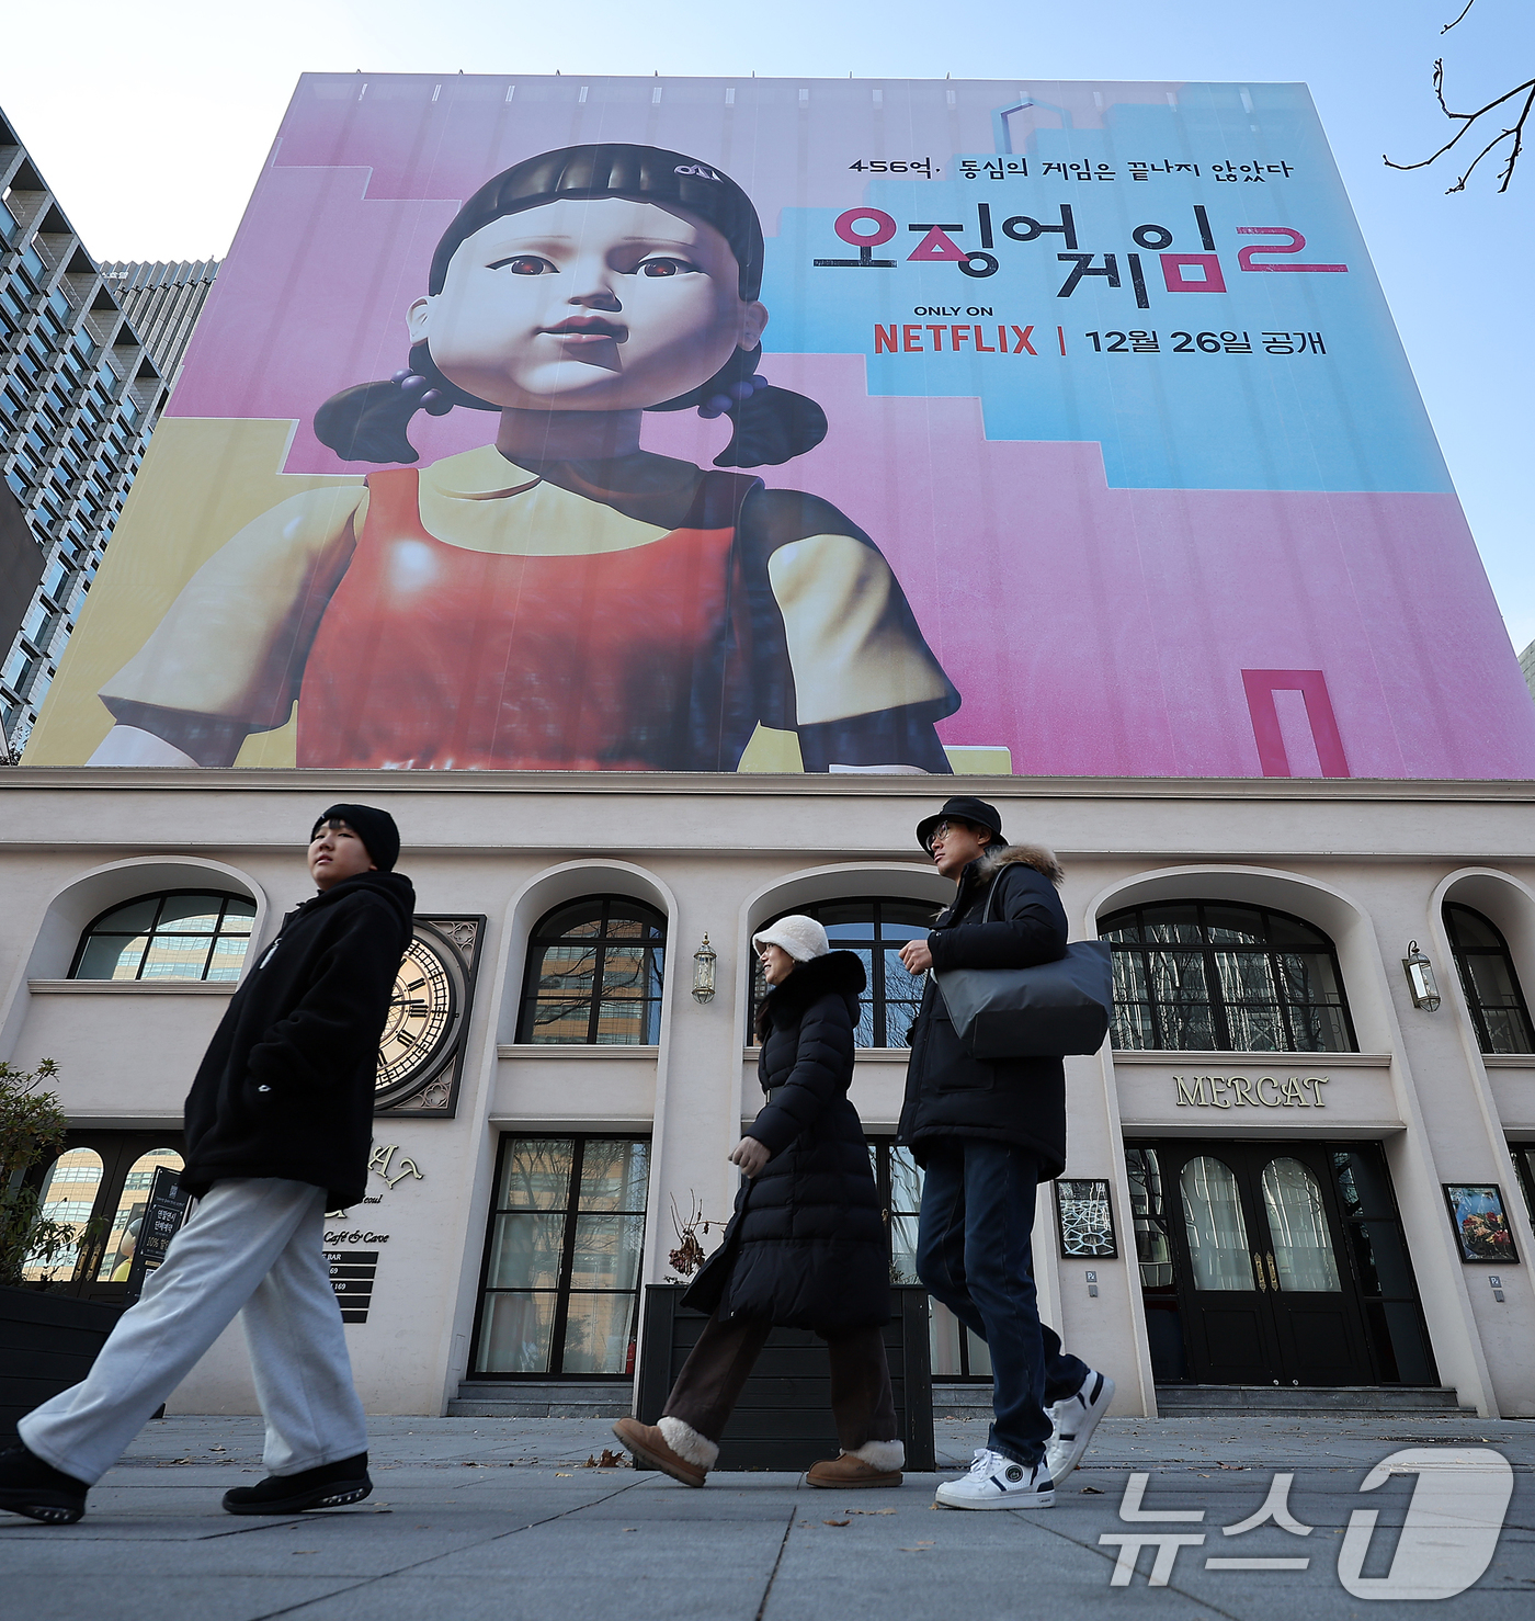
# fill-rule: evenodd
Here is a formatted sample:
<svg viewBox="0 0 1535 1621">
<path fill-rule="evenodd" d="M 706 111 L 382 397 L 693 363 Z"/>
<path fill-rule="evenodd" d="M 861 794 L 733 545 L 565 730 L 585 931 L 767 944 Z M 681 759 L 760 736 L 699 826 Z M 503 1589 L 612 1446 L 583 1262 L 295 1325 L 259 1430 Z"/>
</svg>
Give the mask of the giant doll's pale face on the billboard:
<svg viewBox="0 0 1535 1621">
<path fill-rule="evenodd" d="M 767 324 L 725 237 L 626 198 L 561 199 L 483 225 L 441 293 L 410 306 L 460 389 L 515 410 L 637 410 L 699 387 Z"/>
</svg>

